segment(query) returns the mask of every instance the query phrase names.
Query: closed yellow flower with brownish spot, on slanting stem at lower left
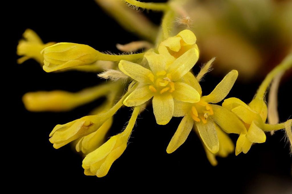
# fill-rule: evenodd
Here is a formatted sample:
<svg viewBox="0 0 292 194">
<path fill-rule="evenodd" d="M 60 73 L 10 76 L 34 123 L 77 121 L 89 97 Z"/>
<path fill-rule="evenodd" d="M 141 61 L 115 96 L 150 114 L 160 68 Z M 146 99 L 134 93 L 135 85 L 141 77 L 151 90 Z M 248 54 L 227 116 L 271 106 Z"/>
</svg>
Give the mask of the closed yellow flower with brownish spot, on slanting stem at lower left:
<svg viewBox="0 0 292 194">
<path fill-rule="evenodd" d="M 133 89 L 135 86 L 133 86 Z M 87 136 L 98 130 L 104 122 L 114 115 L 123 105 L 124 99 L 129 95 L 128 91 L 111 109 L 99 115 L 85 116 L 66 124 L 58 124 L 50 134 L 50 142 L 56 149 L 70 143 L 73 140 Z"/>
</svg>

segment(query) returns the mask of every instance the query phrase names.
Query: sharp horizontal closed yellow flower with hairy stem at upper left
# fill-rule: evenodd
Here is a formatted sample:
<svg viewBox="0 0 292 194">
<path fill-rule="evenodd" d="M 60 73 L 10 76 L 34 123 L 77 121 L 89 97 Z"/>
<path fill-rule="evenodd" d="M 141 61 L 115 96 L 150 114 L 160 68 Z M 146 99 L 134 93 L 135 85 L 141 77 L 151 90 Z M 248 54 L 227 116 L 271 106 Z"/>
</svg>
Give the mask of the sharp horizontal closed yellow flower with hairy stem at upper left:
<svg viewBox="0 0 292 194">
<path fill-rule="evenodd" d="M 44 55 L 43 69 L 52 72 L 68 67 L 89 65 L 97 60 L 119 61 L 135 60 L 143 57 L 143 53 L 130 55 L 109 55 L 101 53 L 88 45 L 60 42 L 44 48 L 41 53 Z"/>
</svg>

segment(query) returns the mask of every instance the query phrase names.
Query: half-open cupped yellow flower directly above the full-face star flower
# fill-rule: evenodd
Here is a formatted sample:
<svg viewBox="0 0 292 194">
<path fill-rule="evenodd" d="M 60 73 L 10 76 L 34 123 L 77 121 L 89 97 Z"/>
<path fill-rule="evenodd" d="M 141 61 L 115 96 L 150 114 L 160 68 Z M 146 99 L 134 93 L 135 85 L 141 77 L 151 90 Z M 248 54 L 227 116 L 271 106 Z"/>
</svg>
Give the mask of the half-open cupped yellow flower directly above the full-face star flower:
<svg viewBox="0 0 292 194">
<path fill-rule="evenodd" d="M 195 48 L 197 50 L 198 46 L 196 43 L 196 36 L 190 30 L 183 30 L 176 36 L 170 37 L 159 45 L 159 54 L 164 54 L 173 60 L 182 56 L 186 51 Z"/>
</svg>

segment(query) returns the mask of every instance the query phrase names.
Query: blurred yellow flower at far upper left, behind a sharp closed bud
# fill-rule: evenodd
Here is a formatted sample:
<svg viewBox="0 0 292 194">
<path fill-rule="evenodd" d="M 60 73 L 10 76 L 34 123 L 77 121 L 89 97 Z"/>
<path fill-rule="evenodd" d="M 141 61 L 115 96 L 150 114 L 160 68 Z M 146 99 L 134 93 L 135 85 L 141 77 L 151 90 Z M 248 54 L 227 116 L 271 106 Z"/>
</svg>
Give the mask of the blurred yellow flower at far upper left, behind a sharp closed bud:
<svg viewBox="0 0 292 194">
<path fill-rule="evenodd" d="M 17 54 L 22 56 L 17 60 L 17 63 L 21 64 L 26 60 L 33 58 L 41 65 L 44 63 L 44 57 L 41 54 L 41 50 L 45 47 L 55 44 L 55 42 L 43 43 L 41 38 L 31 29 L 26 29 L 23 33 L 24 40 L 20 40 L 17 46 Z"/>
</svg>

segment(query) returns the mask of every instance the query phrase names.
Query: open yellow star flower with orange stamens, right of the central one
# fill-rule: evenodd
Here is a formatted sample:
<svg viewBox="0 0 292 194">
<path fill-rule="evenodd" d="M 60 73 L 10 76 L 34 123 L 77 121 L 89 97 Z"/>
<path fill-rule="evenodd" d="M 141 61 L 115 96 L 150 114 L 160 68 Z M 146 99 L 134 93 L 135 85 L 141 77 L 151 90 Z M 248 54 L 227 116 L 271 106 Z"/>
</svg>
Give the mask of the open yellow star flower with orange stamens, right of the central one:
<svg viewBox="0 0 292 194">
<path fill-rule="evenodd" d="M 175 101 L 173 116 L 184 116 L 180 122 L 177 131 L 171 138 L 166 149 L 167 153 L 174 152 L 182 145 L 193 127 L 198 130 L 202 141 L 212 153 L 219 151 L 219 139 L 216 132 L 216 124 L 219 125 L 226 133 L 240 134 L 246 131 L 242 122 L 231 111 L 209 103 L 218 103 L 222 101 L 231 90 L 238 72 L 232 70 L 223 80 L 215 87 L 215 89 L 207 96 L 202 96 L 201 100 L 196 103 L 185 103 Z M 192 81 L 197 81 L 193 76 Z M 196 84 L 200 87 L 199 84 Z M 201 88 L 197 88 L 201 90 Z"/>
</svg>

